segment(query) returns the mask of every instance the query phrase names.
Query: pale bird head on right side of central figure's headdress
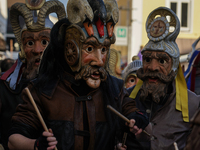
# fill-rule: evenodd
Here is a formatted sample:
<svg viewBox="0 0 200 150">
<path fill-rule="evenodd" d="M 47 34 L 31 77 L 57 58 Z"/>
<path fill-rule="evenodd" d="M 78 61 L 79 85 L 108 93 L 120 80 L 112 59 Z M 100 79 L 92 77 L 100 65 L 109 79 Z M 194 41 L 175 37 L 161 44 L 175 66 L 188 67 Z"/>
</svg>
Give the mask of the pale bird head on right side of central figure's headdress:
<svg viewBox="0 0 200 150">
<path fill-rule="evenodd" d="M 103 0 L 107 11 L 107 21 L 111 18 L 116 24 L 119 20 L 119 9 L 116 0 Z"/>
</svg>

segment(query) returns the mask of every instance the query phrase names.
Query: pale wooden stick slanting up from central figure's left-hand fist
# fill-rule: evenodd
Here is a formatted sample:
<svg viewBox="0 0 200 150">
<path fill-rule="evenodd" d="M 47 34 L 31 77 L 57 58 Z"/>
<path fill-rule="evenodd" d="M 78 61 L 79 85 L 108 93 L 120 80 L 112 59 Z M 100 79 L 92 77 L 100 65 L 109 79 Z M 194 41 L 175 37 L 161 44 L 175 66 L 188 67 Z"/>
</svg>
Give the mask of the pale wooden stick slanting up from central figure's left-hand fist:
<svg viewBox="0 0 200 150">
<path fill-rule="evenodd" d="M 41 122 L 41 124 L 42 124 L 42 126 L 44 128 L 44 130 L 47 131 L 47 132 L 49 132 L 49 130 L 48 130 L 48 128 L 47 128 L 47 126 L 46 126 L 43 118 L 42 118 L 42 115 L 40 114 L 40 111 L 37 108 L 37 105 L 35 104 L 35 101 L 34 101 L 32 95 L 31 95 L 31 93 L 30 93 L 30 91 L 29 91 L 29 89 L 27 87 L 25 88 L 25 91 L 28 94 L 28 97 L 29 97 L 29 99 L 30 99 L 30 101 L 31 101 L 31 103 L 32 103 L 32 105 L 33 105 L 36 113 L 37 113 L 37 116 L 38 116 L 38 118 L 39 118 L 39 120 L 40 120 L 40 122 Z M 57 147 L 55 147 L 55 150 L 58 150 Z"/>
</svg>

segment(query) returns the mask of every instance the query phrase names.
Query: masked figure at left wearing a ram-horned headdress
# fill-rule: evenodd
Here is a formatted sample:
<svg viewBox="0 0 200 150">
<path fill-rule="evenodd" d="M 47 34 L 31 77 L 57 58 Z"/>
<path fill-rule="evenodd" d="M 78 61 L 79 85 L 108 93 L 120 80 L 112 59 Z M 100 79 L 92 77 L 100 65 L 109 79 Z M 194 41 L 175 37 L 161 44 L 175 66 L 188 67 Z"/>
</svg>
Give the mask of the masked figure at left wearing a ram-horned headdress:
<svg viewBox="0 0 200 150">
<path fill-rule="evenodd" d="M 59 1 L 29 0 L 26 4 L 16 3 L 10 9 L 12 29 L 21 51 L 16 63 L 0 78 L 0 143 L 5 149 L 8 149 L 11 117 L 16 106 L 22 103 L 21 91 L 35 78 L 41 55 L 50 41 L 53 23 L 48 15 L 53 12 L 59 19 L 66 16 L 64 5 Z M 23 27 L 20 27 L 19 16 L 24 18 Z"/>
</svg>

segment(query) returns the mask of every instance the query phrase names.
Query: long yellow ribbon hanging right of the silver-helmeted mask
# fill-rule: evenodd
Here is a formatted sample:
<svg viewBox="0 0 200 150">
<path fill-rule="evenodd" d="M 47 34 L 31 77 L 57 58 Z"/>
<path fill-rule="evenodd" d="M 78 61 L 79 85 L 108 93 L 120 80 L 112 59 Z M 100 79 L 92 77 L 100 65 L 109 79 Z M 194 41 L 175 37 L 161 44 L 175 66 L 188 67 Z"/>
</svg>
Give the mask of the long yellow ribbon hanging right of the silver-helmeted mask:
<svg viewBox="0 0 200 150">
<path fill-rule="evenodd" d="M 180 63 L 178 68 L 178 74 L 176 76 L 175 81 L 176 81 L 176 109 L 182 111 L 183 121 L 189 122 L 187 85 L 185 78 L 183 76 Z"/>
</svg>

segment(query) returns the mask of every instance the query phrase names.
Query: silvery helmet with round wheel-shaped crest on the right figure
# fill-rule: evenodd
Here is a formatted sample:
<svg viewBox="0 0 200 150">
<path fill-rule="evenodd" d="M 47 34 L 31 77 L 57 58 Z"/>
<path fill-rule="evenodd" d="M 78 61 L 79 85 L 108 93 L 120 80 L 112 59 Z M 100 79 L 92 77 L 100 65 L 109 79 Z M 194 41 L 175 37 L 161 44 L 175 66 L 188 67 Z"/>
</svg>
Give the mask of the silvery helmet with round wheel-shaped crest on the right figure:
<svg viewBox="0 0 200 150">
<path fill-rule="evenodd" d="M 170 27 L 174 30 L 170 31 Z M 176 14 L 166 7 L 155 9 L 147 18 L 146 32 L 149 42 L 142 53 L 146 50 L 166 52 L 173 60 L 172 70 L 177 73 L 180 53 L 175 40 L 180 32 L 180 22 Z"/>
</svg>

